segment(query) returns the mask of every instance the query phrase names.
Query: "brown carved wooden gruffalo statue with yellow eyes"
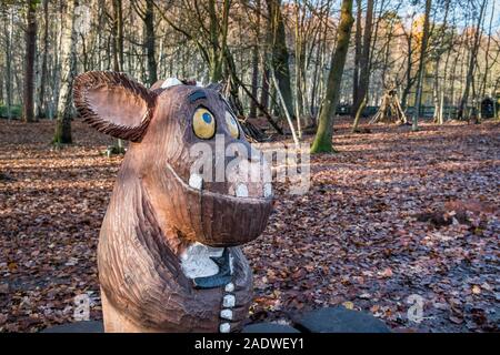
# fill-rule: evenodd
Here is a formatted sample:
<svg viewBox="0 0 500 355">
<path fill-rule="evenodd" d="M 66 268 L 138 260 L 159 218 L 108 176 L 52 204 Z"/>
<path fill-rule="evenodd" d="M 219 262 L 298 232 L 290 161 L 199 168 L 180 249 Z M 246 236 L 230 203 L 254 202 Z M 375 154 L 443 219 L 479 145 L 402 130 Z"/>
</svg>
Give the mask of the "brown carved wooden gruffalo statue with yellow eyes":
<svg viewBox="0 0 500 355">
<path fill-rule="evenodd" d="M 263 231 L 272 191 L 239 182 L 238 169 L 223 182 L 191 172 L 198 142 L 213 159 L 219 134 L 250 150 L 227 101 L 210 87 L 169 79 L 147 89 L 117 72 L 77 77 L 73 98 L 87 123 L 131 141 L 100 231 L 106 332 L 239 331 L 252 295 L 239 245 Z"/>
</svg>

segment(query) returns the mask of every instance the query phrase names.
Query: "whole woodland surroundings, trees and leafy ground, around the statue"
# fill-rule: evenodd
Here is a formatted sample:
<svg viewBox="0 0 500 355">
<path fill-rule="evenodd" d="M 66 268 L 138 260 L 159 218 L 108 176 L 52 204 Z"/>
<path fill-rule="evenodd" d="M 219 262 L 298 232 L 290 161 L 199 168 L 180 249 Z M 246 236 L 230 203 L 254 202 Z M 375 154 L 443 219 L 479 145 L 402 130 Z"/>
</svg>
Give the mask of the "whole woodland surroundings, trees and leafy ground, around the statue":
<svg viewBox="0 0 500 355">
<path fill-rule="evenodd" d="M 126 143 L 76 115 L 89 70 L 221 82 L 262 149 L 338 152 L 311 155 L 306 194 L 276 184 L 244 246 L 250 322 L 341 304 L 400 332 L 498 332 L 499 13 L 498 0 L 2 0 L 0 332 L 72 322 L 82 293 L 102 317 L 96 246 Z M 389 93 L 404 116 L 380 109 Z M 398 124 L 370 123 L 381 112 Z"/>
</svg>

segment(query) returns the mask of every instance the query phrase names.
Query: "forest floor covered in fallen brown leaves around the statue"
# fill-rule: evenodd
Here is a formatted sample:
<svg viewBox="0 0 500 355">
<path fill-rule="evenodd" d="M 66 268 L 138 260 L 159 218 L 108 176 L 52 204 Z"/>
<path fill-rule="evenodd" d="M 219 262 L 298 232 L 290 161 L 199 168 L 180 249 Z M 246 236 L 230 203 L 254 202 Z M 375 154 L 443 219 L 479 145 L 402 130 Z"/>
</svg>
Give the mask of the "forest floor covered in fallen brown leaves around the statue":
<svg viewBox="0 0 500 355">
<path fill-rule="evenodd" d="M 351 134 L 341 120 L 309 192 L 276 186 L 266 232 L 244 246 L 252 321 L 343 304 L 402 332 L 500 331 L 500 124 L 421 128 Z M 101 318 L 96 247 L 121 158 L 79 121 L 71 146 L 52 149 L 52 132 L 0 121 L 1 332 L 71 322 L 81 293 Z"/>
</svg>

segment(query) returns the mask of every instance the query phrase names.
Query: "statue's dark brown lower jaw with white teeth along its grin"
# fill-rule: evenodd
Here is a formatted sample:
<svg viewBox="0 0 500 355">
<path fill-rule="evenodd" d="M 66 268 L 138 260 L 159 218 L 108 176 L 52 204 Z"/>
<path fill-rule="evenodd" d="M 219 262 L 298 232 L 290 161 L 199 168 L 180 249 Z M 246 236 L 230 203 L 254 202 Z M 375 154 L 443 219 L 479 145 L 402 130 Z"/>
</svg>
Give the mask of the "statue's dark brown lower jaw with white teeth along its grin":
<svg viewBox="0 0 500 355">
<path fill-rule="evenodd" d="M 169 219 L 190 242 L 236 246 L 253 241 L 266 229 L 272 210 L 270 183 L 241 183 L 244 180 L 234 179 L 216 192 L 213 189 L 221 185 L 204 183 L 199 175 L 191 174 L 187 183 L 170 164 L 166 172 Z"/>
</svg>

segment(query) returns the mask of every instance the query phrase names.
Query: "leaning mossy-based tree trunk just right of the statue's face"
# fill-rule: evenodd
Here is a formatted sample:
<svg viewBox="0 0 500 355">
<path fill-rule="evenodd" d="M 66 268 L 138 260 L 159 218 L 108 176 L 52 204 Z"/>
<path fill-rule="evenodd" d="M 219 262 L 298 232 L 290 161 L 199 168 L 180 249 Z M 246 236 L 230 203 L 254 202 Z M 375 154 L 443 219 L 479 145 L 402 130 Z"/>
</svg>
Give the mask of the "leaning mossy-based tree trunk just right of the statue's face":
<svg viewBox="0 0 500 355">
<path fill-rule="evenodd" d="M 352 0 L 342 0 L 340 23 L 337 33 L 337 47 L 331 55 L 330 73 L 328 75 L 327 92 L 319 115 L 318 131 L 311 146 L 311 153 L 332 152 L 333 115 L 339 101 L 340 83 L 349 49 L 352 23 Z"/>
</svg>

